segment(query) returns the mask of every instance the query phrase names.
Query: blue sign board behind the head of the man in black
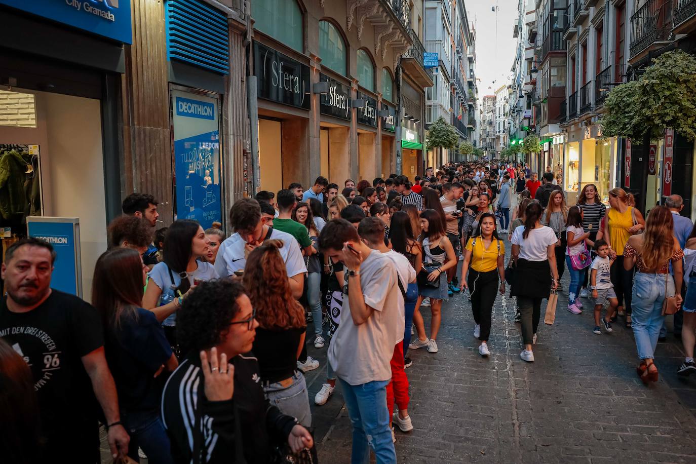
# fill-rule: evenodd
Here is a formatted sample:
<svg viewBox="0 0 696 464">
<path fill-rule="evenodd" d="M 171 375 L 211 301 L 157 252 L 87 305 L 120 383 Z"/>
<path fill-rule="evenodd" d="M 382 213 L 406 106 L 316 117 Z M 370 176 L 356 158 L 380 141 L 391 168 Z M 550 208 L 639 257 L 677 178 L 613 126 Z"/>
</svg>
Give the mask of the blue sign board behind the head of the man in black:
<svg viewBox="0 0 696 464">
<path fill-rule="evenodd" d="M 82 296 L 80 235 L 77 218 L 26 218 L 29 237 L 44 239 L 56 251 L 51 288 Z"/>
</svg>

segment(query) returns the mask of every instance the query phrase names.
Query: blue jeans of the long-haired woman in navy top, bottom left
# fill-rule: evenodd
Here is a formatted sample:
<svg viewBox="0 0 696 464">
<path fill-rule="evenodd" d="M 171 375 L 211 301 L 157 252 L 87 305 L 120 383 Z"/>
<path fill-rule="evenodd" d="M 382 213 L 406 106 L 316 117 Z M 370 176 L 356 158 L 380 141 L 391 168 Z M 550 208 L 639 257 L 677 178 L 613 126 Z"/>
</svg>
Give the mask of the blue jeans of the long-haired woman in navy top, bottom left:
<svg viewBox="0 0 696 464">
<path fill-rule="evenodd" d="M 129 458 L 139 463 L 138 448 L 140 447 L 148 456 L 148 463 L 174 463 L 169 436 L 164 430 L 159 411 L 133 413 L 121 411 L 121 422 L 130 436 Z"/>
</svg>

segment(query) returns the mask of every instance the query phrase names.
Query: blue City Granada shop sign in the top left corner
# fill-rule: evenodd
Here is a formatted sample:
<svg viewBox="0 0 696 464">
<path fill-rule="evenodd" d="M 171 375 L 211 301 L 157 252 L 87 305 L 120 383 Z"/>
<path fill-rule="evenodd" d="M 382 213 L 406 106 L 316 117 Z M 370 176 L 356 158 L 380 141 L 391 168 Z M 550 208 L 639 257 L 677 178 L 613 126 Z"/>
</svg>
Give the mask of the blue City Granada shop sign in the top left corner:
<svg viewBox="0 0 696 464">
<path fill-rule="evenodd" d="M 0 5 L 126 44 L 133 43 L 130 3 L 130 0 L 0 0 Z"/>
</svg>

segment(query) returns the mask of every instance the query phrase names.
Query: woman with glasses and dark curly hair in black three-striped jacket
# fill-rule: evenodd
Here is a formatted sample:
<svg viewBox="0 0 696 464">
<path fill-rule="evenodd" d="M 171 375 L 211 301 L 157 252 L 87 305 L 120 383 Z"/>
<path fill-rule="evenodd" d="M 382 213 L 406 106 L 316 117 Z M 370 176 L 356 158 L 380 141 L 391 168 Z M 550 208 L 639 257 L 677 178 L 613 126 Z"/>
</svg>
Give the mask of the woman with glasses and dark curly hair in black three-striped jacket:
<svg viewBox="0 0 696 464">
<path fill-rule="evenodd" d="M 258 362 L 248 354 L 259 323 L 242 284 L 201 282 L 177 317 L 187 355 L 161 401 L 175 462 L 269 463 L 280 440 L 294 452 L 313 447 L 307 429 L 264 398 Z"/>
</svg>

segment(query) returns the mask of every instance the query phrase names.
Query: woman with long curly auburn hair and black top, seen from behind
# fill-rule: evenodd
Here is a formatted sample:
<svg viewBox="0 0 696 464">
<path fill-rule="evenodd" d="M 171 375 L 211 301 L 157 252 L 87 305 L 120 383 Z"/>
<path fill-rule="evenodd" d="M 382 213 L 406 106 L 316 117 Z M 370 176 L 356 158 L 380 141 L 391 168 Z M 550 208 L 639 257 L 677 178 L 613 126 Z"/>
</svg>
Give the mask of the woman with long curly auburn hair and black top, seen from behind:
<svg viewBox="0 0 696 464">
<path fill-rule="evenodd" d="M 280 240 L 267 240 L 246 259 L 242 282 L 259 323 L 252 351 L 271 404 L 309 427 L 312 413 L 307 384 L 296 365 L 305 342 L 306 322 L 304 309 L 292 298 L 287 283 L 285 263 L 278 251 L 282 247 Z"/>
</svg>

